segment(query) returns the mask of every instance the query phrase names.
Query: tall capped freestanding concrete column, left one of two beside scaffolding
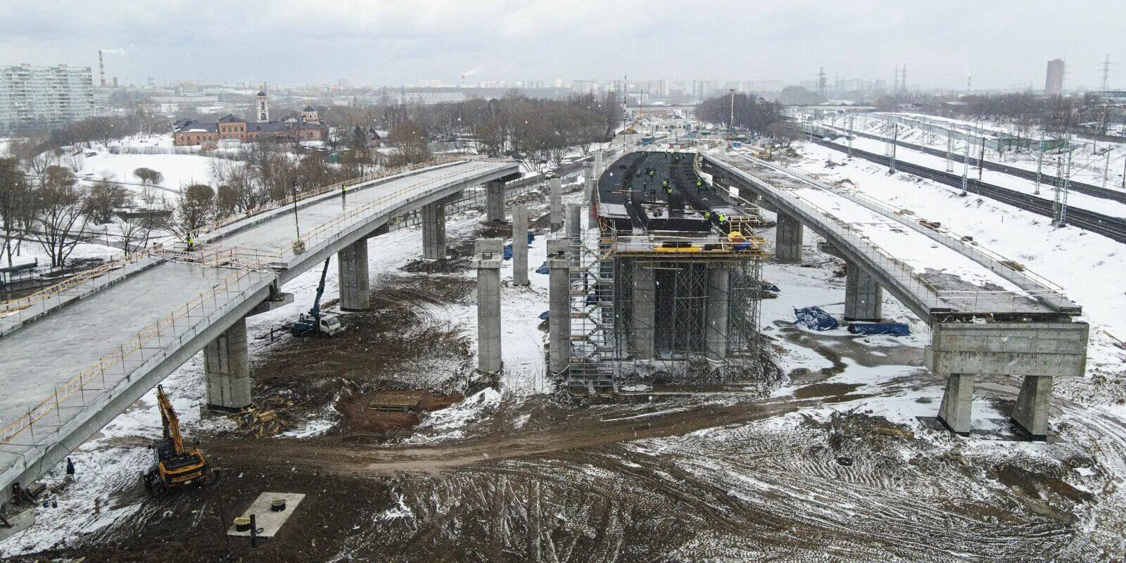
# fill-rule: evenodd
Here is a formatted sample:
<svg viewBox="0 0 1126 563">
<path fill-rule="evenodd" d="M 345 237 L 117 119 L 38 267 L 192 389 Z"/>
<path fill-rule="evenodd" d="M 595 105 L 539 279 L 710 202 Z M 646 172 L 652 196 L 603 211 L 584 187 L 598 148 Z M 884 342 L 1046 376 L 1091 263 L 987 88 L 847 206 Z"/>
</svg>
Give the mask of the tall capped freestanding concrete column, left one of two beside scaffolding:
<svg viewBox="0 0 1126 563">
<path fill-rule="evenodd" d="M 495 374 L 500 357 L 500 265 L 504 241 L 477 239 L 473 267 L 477 269 L 477 370 Z"/>
</svg>

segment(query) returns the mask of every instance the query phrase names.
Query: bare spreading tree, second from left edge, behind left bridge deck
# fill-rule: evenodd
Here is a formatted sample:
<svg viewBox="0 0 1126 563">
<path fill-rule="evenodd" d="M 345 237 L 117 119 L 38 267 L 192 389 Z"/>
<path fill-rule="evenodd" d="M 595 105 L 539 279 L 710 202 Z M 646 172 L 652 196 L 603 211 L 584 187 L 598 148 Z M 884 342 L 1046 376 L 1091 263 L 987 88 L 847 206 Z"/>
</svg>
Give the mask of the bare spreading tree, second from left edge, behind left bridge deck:
<svg viewBox="0 0 1126 563">
<path fill-rule="evenodd" d="M 36 215 L 30 234 L 46 251 L 53 268 L 61 268 L 74 247 L 87 238 L 88 203 L 77 181 L 70 170 L 51 167 L 34 190 Z"/>
</svg>

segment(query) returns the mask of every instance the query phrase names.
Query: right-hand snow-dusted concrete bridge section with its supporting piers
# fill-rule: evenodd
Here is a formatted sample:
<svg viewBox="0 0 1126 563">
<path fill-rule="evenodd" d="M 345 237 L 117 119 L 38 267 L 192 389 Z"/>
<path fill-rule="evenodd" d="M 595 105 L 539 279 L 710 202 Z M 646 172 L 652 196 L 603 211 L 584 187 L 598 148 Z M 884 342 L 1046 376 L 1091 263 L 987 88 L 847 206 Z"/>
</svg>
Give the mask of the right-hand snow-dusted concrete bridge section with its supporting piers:
<svg viewBox="0 0 1126 563">
<path fill-rule="evenodd" d="M 705 154 L 709 173 L 778 214 L 775 256 L 801 261 L 803 230 L 825 239 L 846 261 L 844 318 L 882 320 L 883 289 L 931 328 L 923 363 L 947 377 L 938 420 L 968 434 L 974 379 L 1024 381 L 1011 420 L 1035 439 L 1049 434 L 1053 377 L 1082 377 L 1089 327 L 1062 289 L 984 249 L 956 240 L 932 222 L 882 207 L 750 157 Z"/>
</svg>

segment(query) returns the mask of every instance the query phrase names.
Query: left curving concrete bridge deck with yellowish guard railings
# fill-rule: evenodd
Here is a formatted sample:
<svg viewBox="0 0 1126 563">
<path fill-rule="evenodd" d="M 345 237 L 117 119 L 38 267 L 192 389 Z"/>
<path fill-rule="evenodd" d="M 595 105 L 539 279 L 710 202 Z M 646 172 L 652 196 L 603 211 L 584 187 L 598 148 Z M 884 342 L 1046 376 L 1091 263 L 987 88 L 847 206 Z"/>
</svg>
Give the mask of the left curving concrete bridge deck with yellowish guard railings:
<svg viewBox="0 0 1126 563">
<path fill-rule="evenodd" d="M 293 207 L 272 209 L 209 233 L 195 252 L 152 251 L 144 268 L 82 280 L 34 314 L 10 312 L 19 322 L 0 337 L 0 501 L 233 327 L 244 336 L 242 319 L 304 269 L 366 244 L 391 217 L 517 175 L 515 162 L 459 161 L 355 184 L 298 202 L 303 249 Z M 366 271 L 352 272 L 365 295 Z"/>
</svg>

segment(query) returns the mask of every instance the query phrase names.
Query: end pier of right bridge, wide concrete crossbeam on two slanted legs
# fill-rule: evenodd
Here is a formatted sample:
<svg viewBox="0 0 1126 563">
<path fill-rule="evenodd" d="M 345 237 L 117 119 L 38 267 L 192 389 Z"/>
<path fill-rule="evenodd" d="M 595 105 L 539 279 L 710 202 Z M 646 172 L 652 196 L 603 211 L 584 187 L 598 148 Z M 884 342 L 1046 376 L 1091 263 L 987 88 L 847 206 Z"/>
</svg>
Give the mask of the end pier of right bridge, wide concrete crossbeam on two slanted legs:
<svg viewBox="0 0 1126 563">
<path fill-rule="evenodd" d="M 965 405 L 968 418 L 972 391 L 967 395 L 955 378 L 1022 376 L 1012 421 L 1034 438 L 1046 437 L 1052 377 L 1084 375 L 1089 330 L 1084 322 L 932 323 L 927 367 L 950 378 L 940 417 L 956 431 L 969 431 L 968 420 L 963 425 L 959 414 Z"/>
</svg>

